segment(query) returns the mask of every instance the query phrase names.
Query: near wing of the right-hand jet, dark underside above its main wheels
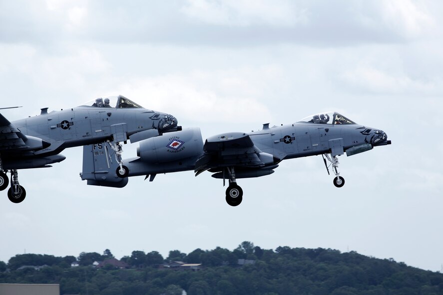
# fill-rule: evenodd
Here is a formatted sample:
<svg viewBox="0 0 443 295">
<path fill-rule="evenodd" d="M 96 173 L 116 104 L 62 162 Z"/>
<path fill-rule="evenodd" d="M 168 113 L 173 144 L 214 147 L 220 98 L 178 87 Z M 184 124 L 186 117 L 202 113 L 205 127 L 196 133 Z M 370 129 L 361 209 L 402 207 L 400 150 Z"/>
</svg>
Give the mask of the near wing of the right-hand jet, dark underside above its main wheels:
<svg viewBox="0 0 443 295">
<path fill-rule="evenodd" d="M 269 157 L 273 158 L 257 148 L 249 135 L 241 132 L 210 137 L 203 151 L 195 163 L 196 176 L 209 169 L 220 171 L 223 167 L 260 168 L 269 164 Z"/>
</svg>

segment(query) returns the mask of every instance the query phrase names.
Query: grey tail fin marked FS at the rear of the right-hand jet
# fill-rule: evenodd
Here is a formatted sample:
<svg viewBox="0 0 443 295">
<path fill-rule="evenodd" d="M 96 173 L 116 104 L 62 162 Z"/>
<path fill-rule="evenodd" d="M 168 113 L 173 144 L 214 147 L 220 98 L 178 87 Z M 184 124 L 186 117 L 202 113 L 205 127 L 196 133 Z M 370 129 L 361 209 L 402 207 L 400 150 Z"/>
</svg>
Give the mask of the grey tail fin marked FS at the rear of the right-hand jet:
<svg viewBox="0 0 443 295">
<path fill-rule="evenodd" d="M 83 146 L 83 169 L 81 180 L 87 180 L 88 185 L 122 188 L 128 183 L 128 178 L 119 178 L 115 174 L 118 162 L 115 152 L 107 148 L 106 143 Z"/>
</svg>

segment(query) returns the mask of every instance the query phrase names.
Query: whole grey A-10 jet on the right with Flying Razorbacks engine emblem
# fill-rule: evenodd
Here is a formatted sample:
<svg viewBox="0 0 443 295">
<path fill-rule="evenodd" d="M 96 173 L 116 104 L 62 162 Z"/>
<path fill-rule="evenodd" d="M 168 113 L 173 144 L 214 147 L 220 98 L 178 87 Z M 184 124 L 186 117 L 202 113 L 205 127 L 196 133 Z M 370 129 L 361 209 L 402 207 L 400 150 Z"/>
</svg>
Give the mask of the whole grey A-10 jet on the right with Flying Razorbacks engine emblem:
<svg viewBox="0 0 443 295">
<path fill-rule="evenodd" d="M 199 128 L 171 132 L 141 141 L 137 157 L 125 163 L 128 176 L 146 175 L 149 181 L 159 173 L 194 170 L 197 176 L 209 171 L 212 177 L 223 179 L 223 184 L 229 181 L 226 202 L 237 206 L 243 198 L 237 179 L 272 174 L 282 160 L 322 155 L 328 174 L 332 166 L 334 185 L 340 188 L 345 179 L 338 172 L 337 156 L 389 144 L 382 130 L 357 124 L 337 112 L 326 112 L 289 125 L 264 124 L 258 132 L 223 133 L 204 144 Z M 84 146 L 82 180 L 89 185 L 124 187 L 128 179 L 114 173 L 117 163 L 111 158 L 102 145 Z"/>
</svg>

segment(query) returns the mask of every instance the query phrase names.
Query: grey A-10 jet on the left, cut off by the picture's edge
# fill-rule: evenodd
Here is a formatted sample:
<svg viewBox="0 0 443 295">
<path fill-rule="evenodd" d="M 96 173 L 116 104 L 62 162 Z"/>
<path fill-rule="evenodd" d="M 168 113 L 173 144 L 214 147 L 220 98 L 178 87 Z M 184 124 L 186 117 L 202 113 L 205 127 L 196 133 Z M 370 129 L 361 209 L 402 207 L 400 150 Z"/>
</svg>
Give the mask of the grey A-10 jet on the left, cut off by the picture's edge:
<svg viewBox="0 0 443 295">
<path fill-rule="evenodd" d="M 50 113 L 43 108 L 38 116 L 14 122 L 0 114 L 0 190 L 7 188 L 6 172 L 10 171 L 7 195 L 11 202 L 20 203 L 26 191 L 18 183 L 17 169 L 50 167 L 65 159 L 59 154 L 63 149 L 95 143 L 104 143 L 113 151 L 114 173 L 126 177 L 129 170 L 121 159 L 121 142 L 180 129 L 174 116 L 145 109 L 121 95 Z"/>
</svg>

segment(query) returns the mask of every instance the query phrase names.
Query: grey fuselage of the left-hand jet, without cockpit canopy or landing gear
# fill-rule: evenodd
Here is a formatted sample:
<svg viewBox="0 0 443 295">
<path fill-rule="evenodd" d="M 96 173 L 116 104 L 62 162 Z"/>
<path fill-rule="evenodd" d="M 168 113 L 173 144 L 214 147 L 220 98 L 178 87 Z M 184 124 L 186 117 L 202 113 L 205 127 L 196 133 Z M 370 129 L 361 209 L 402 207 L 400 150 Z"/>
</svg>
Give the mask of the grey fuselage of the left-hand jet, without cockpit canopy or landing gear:
<svg viewBox="0 0 443 295">
<path fill-rule="evenodd" d="M 64 160 L 64 156 L 56 155 L 65 148 L 106 140 L 126 141 L 138 132 L 156 129 L 161 133 L 177 125 L 173 116 L 148 109 L 91 106 L 52 111 L 11 123 L 26 136 L 50 145 L 27 152 L 3 151 L 4 170 L 41 167 Z"/>
</svg>

